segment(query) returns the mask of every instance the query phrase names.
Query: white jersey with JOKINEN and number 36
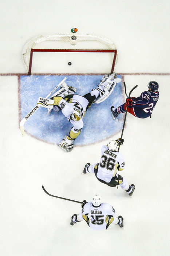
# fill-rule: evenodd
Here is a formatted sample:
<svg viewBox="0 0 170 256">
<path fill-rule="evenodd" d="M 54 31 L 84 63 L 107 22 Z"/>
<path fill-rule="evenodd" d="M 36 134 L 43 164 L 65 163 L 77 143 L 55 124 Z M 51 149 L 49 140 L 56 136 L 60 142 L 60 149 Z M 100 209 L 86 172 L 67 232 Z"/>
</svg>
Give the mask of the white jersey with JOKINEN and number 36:
<svg viewBox="0 0 170 256">
<path fill-rule="evenodd" d="M 98 165 L 97 177 L 100 180 L 110 182 L 117 169 L 124 169 L 124 157 L 116 151 L 110 151 L 106 145 L 102 146 L 102 157 Z"/>
</svg>

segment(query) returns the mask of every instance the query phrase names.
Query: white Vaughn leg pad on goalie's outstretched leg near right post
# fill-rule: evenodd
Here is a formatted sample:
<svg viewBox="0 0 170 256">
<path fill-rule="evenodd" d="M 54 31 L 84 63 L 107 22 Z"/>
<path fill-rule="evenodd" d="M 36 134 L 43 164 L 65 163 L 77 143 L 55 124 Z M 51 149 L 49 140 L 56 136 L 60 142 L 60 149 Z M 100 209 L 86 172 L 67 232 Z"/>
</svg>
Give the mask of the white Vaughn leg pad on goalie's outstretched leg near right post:
<svg viewBox="0 0 170 256">
<path fill-rule="evenodd" d="M 111 95 L 116 86 L 116 83 L 119 83 L 121 80 L 122 79 L 117 78 L 116 73 L 110 73 L 108 76 L 103 76 L 100 84 L 98 85 L 98 88 L 96 88 L 96 90 L 100 92 L 100 96 L 94 100 L 93 104 L 99 104 L 100 102 L 105 101 L 105 99 Z"/>
</svg>

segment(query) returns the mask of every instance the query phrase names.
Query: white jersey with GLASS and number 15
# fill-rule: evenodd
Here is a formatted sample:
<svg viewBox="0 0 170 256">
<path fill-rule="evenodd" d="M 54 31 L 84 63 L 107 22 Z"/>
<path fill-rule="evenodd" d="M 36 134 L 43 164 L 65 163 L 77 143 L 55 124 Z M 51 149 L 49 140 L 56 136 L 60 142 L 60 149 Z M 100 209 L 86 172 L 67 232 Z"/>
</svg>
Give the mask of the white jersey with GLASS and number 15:
<svg viewBox="0 0 170 256">
<path fill-rule="evenodd" d="M 107 229 L 111 223 L 117 224 L 119 221 L 114 208 L 108 203 L 102 203 L 98 207 L 93 206 L 92 202 L 86 203 L 82 208 L 82 217 L 95 230 Z"/>
</svg>

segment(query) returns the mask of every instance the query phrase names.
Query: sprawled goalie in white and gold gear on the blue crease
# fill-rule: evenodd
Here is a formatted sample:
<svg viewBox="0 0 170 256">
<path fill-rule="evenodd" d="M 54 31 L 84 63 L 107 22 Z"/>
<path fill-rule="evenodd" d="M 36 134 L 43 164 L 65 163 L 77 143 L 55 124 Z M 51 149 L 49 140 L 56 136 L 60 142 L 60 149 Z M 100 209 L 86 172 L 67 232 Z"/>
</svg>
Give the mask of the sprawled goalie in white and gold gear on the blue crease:
<svg viewBox="0 0 170 256">
<path fill-rule="evenodd" d="M 121 81 L 116 74 L 103 76 L 97 88 L 83 96 L 75 94 L 76 88 L 67 86 L 66 83 L 62 88 L 52 95 L 53 110 L 61 110 L 63 115 L 73 125 L 68 135 L 59 143 L 59 146 L 66 152 L 70 152 L 73 148 L 74 140 L 80 135 L 83 128 L 83 117 L 92 103 L 100 103 L 110 96 L 116 83 Z M 51 110 L 48 110 L 50 114 Z"/>
</svg>

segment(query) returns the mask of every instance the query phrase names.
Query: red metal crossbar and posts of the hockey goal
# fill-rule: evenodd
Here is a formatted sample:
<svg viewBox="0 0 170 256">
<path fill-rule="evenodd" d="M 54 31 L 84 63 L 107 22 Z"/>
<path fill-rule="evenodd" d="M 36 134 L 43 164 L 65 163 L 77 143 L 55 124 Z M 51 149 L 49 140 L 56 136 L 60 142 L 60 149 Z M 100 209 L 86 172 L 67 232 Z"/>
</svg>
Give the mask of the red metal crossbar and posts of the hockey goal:
<svg viewBox="0 0 170 256">
<path fill-rule="evenodd" d="M 114 53 L 114 58 L 112 62 L 111 67 L 111 73 L 114 71 L 115 63 L 116 63 L 116 56 L 117 56 L 117 50 L 116 49 L 33 49 L 31 48 L 30 57 L 29 57 L 29 70 L 28 75 L 31 75 L 31 69 L 32 69 L 32 59 L 33 59 L 33 52 L 94 52 L 94 53 Z"/>
</svg>

